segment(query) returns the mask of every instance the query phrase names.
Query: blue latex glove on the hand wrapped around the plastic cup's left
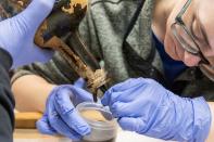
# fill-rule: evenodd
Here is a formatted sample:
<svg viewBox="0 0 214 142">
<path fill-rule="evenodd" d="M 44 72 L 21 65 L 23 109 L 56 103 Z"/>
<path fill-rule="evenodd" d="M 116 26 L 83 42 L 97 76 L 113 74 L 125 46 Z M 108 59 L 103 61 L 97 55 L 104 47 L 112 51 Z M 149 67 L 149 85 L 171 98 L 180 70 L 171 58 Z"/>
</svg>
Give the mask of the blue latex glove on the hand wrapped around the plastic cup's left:
<svg viewBox="0 0 214 142">
<path fill-rule="evenodd" d="M 92 94 L 81 89 L 84 85 L 85 81 L 79 79 L 74 86 L 63 85 L 53 89 L 47 100 L 43 117 L 37 121 L 41 133 L 60 133 L 72 140 L 90 133 L 90 127 L 75 109 L 78 103 L 92 101 Z"/>
</svg>

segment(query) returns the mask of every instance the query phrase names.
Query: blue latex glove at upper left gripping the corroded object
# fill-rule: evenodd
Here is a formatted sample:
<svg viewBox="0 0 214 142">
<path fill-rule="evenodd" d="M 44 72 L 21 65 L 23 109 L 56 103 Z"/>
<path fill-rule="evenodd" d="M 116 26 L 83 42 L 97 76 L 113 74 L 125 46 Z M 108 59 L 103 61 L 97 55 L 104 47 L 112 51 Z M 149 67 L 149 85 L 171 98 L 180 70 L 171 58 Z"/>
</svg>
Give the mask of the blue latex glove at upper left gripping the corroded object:
<svg viewBox="0 0 214 142">
<path fill-rule="evenodd" d="M 14 17 L 0 22 L 0 48 L 7 50 L 13 59 L 13 67 L 32 62 L 46 62 L 53 51 L 35 46 L 34 37 L 42 21 L 51 12 L 55 0 L 33 0 Z"/>
</svg>

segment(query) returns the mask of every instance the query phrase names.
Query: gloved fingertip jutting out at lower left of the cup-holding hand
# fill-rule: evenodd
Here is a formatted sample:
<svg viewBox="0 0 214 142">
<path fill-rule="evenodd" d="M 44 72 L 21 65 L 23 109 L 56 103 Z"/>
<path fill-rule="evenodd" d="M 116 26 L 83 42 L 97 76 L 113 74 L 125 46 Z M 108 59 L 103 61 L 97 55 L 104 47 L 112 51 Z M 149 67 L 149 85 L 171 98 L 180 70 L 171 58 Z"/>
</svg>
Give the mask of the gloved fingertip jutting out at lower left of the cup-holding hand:
<svg viewBox="0 0 214 142">
<path fill-rule="evenodd" d="M 50 126 L 48 116 L 46 114 L 39 120 L 37 120 L 36 127 L 43 134 L 56 134 L 56 131 Z"/>
</svg>

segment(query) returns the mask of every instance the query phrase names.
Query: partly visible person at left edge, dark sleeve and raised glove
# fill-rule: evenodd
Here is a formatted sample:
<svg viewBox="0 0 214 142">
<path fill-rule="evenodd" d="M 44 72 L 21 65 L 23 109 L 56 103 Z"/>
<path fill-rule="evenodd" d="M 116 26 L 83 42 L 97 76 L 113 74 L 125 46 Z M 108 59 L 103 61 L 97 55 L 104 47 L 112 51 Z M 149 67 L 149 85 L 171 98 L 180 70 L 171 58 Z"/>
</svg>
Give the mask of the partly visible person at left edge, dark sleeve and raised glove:
<svg viewBox="0 0 214 142">
<path fill-rule="evenodd" d="M 47 62 L 53 51 L 34 44 L 35 29 L 51 12 L 54 0 L 34 0 L 16 16 L 0 22 L 0 141 L 12 142 L 14 129 L 14 98 L 9 70 L 32 62 Z M 38 10 L 43 9 L 42 13 Z M 33 18 L 34 17 L 34 18 Z M 2 20 L 2 18 L 1 18 Z"/>
</svg>

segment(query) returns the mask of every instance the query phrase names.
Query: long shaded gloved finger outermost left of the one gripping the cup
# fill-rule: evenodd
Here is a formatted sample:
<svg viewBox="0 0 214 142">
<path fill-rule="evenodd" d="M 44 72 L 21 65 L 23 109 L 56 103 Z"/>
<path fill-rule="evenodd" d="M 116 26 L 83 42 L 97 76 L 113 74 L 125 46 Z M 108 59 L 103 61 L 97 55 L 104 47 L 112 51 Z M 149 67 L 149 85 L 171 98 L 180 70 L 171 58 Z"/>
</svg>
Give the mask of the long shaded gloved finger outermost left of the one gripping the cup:
<svg viewBox="0 0 214 142">
<path fill-rule="evenodd" d="M 47 115 L 51 127 L 58 131 L 58 133 L 72 140 L 79 140 L 81 138 L 79 133 L 64 122 L 60 114 L 56 112 L 54 106 L 54 95 L 49 98 L 49 103 L 47 104 Z"/>
</svg>

